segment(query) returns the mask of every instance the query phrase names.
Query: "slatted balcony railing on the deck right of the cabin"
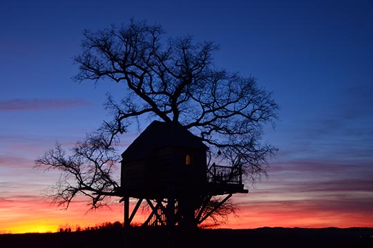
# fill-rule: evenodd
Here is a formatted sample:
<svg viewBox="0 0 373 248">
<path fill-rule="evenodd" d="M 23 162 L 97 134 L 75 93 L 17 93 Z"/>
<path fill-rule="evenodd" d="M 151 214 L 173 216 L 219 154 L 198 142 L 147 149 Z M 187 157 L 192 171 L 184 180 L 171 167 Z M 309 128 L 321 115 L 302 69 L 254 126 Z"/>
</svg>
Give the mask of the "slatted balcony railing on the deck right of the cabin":
<svg viewBox="0 0 373 248">
<path fill-rule="evenodd" d="M 242 184 L 242 167 L 211 165 L 207 171 L 209 183 Z"/>
</svg>

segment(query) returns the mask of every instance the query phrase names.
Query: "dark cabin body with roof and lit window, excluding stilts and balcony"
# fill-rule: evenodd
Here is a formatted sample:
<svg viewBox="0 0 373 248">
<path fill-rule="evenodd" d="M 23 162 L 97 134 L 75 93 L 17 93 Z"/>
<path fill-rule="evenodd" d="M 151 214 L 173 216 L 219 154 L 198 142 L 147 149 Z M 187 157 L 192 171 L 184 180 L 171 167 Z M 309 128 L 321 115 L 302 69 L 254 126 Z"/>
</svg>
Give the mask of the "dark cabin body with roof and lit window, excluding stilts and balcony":
<svg viewBox="0 0 373 248">
<path fill-rule="evenodd" d="M 166 198 L 204 187 L 207 146 L 175 123 L 153 121 L 122 153 L 122 190 L 133 197 Z"/>
</svg>

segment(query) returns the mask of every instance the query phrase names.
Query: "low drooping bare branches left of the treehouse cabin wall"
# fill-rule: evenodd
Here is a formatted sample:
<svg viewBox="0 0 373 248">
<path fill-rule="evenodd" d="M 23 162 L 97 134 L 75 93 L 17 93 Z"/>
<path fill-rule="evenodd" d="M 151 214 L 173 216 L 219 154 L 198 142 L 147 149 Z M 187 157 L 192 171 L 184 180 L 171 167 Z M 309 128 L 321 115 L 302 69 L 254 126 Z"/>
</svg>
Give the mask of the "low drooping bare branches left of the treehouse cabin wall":
<svg viewBox="0 0 373 248">
<path fill-rule="evenodd" d="M 108 196 L 117 196 L 118 178 L 115 171 L 120 156 L 113 147 L 111 137 L 99 129 L 79 141 L 70 154 L 56 143 L 55 147 L 35 161 L 36 167 L 57 169 L 61 176 L 48 193 L 52 202 L 68 208 L 75 196 L 90 198 L 91 208 L 109 203 Z"/>
</svg>

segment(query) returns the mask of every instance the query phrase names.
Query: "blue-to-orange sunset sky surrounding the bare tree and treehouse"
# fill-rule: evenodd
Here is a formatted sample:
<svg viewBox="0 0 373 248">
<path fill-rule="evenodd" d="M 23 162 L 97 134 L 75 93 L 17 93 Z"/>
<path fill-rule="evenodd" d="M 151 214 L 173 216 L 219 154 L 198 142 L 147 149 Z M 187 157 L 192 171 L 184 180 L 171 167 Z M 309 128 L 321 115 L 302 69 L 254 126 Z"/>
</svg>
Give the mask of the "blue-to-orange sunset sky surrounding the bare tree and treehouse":
<svg viewBox="0 0 373 248">
<path fill-rule="evenodd" d="M 97 211 L 85 198 L 51 205 L 59 174 L 33 166 L 110 119 L 106 93 L 123 86 L 73 81 L 73 57 L 84 29 L 131 18 L 215 42 L 216 65 L 254 76 L 280 106 L 263 136 L 278 147 L 268 177 L 233 195 L 237 216 L 220 227 L 373 227 L 372 13 L 371 0 L 1 0 L 0 234 L 123 221 L 118 199 Z"/>
</svg>

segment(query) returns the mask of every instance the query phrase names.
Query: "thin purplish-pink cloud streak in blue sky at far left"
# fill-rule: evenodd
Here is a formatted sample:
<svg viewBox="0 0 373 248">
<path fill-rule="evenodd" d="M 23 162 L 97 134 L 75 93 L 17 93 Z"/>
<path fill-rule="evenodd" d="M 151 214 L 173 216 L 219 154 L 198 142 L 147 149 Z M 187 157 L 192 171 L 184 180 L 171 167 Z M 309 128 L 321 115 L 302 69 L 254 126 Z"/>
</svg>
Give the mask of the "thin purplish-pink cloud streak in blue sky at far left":
<svg viewBox="0 0 373 248">
<path fill-rule="evenodd" d="M 79 99 L 11 99 L 0 101 L 0 111 L 56 110 L 89 106 Z"/>
</svg>

